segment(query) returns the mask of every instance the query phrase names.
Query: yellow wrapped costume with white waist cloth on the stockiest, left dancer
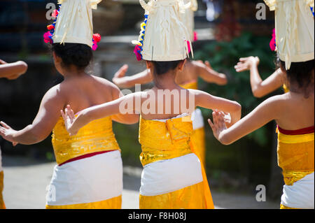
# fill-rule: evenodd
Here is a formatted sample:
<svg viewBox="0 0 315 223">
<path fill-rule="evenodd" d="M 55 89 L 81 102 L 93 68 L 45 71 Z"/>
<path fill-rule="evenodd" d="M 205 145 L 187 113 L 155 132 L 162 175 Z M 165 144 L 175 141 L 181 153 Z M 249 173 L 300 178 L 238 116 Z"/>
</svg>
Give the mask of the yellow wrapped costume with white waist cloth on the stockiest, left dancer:
<svg viewBox="0 0 315 223">
<path fill-rule="evenodd" d="M 52 134 L 58 166 L 47 209 L 120 209 L 123 165 L 111 117 L 94 120 L 69 136 L 62 117 Z"/>
</svg>

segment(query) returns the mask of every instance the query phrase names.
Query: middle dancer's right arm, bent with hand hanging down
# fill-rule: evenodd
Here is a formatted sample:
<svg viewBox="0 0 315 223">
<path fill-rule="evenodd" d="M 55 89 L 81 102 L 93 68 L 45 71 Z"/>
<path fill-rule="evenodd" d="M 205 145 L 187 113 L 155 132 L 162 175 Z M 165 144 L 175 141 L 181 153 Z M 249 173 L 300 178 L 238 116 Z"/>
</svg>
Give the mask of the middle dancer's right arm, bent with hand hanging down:
<svg viewBox="0 0 315 223">
<path fill-rule="evenodd" d="M 212 96 L 200 90 L 194 90 L 196 106 L 208 108 L 211 110 L 221 110 L 224 113 L 230 113 L 231 125 L 241 119 L 241 105 L 236 101 L 230 101 L 217 96 Z"/>
</svg>

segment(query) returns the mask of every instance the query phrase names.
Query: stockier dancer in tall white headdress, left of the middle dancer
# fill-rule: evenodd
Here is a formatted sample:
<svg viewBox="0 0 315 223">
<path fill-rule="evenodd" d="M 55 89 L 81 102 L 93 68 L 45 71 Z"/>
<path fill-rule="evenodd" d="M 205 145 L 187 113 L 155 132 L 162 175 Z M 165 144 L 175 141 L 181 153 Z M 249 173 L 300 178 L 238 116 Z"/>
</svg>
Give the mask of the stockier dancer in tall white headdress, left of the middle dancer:
<svg viewBox="0 0 315 223">
<path fill-rule="evenodd" d="M 34 122 L 15 131 L 1 122 L 0 135 L 8 141 L 30 145 L 43 141 L 52 131 L 55 166 L 46 208 L 119 209 L 122 204 L 123 165 L 112 120 L 132 124 L 139 115 L 113 115 L 91 122 L 75 137 L 67 133 L 60 110 L 73 110 L 118 99 L 123 94 L 113 83 L 85 73 L 94 44 L 92 8 L 100 1 L 67 0 L 62 3 L 54 29 L 45 34 L 52 43 L 55 67 L 64 81 L 43 97 Z M 57 14 L 57 13 L 55 13 Z M 48 29 L 51 28 L 48 26 Z"/>
</svg>

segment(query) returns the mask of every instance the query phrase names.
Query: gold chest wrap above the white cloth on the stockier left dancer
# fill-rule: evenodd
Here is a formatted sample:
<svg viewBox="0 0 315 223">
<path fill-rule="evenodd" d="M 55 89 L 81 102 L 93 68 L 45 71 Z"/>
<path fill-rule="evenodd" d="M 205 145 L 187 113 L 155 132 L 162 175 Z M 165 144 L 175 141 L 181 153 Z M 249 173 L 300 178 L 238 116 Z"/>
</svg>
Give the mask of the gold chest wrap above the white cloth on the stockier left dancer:
<svg viewBox="0 0 315 223">
<path fill-rule="evenodd" d="M 52 146 L 57 164 L 92 152 L 120 150 L 113 134 L 111 117 L 90 122 L 76 136 L 69 136 L 60 117 L 52 131 Z"/>
</svg>

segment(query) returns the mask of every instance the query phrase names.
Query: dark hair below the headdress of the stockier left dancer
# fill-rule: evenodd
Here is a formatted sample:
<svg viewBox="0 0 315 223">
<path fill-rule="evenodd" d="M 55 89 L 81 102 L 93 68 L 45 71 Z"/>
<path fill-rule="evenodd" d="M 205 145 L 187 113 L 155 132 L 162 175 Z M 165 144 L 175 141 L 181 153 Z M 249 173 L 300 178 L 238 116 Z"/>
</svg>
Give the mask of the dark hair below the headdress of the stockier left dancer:
<svg viewBox="0 0 315 223">
<path fill-rule="evenodd" d="M 52 51 L 61 57 L 63 66 L 74 65 L 78 69 L 85 69 L 93 57 L 92 49 L 80 43 L 55 43 L 52 45 Z"/>
</svg>

